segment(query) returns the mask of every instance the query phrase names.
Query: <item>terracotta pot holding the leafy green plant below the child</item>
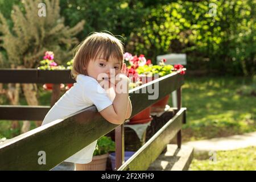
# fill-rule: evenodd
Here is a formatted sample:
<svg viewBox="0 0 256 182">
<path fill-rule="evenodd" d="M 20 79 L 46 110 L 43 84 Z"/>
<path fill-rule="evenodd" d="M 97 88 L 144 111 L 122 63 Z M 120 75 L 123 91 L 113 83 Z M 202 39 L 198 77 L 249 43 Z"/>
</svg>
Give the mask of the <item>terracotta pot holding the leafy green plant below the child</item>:
<svg viewBox="0 0 256 182">
<path fill-rule="evenodd" d="M 105 171 L 109 154 L 93 156 L 92 162 L 76 164 L 76 171 Z"/>
</svg>

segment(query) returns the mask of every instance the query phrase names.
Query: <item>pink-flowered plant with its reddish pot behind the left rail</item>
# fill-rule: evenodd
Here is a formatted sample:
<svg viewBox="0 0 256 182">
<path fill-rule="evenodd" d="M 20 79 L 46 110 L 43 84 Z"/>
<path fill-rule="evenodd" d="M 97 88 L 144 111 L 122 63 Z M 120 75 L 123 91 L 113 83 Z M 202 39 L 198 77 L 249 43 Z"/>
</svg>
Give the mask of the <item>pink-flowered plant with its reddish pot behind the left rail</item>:
<svg viewBox="0 0 256 182">
<path fill-rule="evenodd" d="M 53 60 L 54 59 L 54 54 L 51 51 L 46 51 L 44 53 L 43 60 L 40 61 L 40 65 L 38 69 L 40 70 L 57 70 L 57 69 L 65 69 L 62 65 L 57 65 L 57 63 Z M 53 84 L 44 84 L 43 88 L 46 90 L 52 90 Z M 64 88 L 64 84 L 60 84 L 60 88 Z"/>
</svg>

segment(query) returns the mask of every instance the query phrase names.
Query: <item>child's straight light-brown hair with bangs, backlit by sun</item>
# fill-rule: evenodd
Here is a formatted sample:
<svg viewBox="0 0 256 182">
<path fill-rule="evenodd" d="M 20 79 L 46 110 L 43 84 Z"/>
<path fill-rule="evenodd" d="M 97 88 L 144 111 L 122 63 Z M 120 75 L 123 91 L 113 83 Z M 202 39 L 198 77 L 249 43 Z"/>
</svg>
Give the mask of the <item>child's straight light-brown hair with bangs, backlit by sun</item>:
<svg viewBox="0 0 256 182">
<path fill-rule="evenodd" d="M 123 52 L 122 42 L 113 35 L 104 32 L 93 32 L 77 46 L 71 73 L 75 79 L 79 74 L 87 75 L 86 69 L 88 68 L 89 60 L 95 59 L 98 54 L 101 54 L 99 56 L 103 56 L 107 61 L 110 56 L 113 56 L 121 61 L 122 68 Z"/>
</svg>

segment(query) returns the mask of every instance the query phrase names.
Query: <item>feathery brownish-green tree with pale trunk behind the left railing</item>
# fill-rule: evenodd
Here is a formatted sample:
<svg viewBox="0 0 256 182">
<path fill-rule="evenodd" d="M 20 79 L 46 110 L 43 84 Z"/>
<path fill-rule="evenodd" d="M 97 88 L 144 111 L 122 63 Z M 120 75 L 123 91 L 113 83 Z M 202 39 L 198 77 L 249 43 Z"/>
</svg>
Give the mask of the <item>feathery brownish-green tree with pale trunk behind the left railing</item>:
<svg viewBox="0 0 256 182">
<path fill-rule="evenodd" d="M 65 26 L 64 18 L 60 16 L 59 0 L 45 2 L 40 6 L 40 1 L 26 0 L 23 2 L 24 10 L 14 5 L 11 14 L 13 27 L 9 26 L 7 19 L 0 13 L 0 47 L 6 51 L 6 56 L 0 53 L 0 59 L 5 67 L 36 68 L 47 50 L 53 51 L 60 58 L 57 60 L 59 64 L 72 56 L 73 47 L 78 43 L 75 35 L 82 30 L 84 20 L 72 28 Z M 39 11 L 43 10 L 45 16 L 39 16 Z M 13 90 L 16 89 L 14 86 Z M 22 89 L 28 105 L 38 105 L 36 84 L 22 84 Z M 15 100 L 15 97 L 10 98 Z M 29 126 L 23 132 L 28 130 Z"/>
</svg>

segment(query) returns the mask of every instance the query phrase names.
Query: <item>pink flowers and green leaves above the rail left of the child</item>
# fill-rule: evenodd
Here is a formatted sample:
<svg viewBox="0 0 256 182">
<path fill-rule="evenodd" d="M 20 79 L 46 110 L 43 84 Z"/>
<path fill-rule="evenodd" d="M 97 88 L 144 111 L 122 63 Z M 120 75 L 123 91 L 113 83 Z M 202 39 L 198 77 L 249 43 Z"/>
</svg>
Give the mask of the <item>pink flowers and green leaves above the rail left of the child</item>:
<svg viewBox="0 0 256 182">
<path fill-rule="evenodd" d="M 53 60 L 54 54 L 52 51 L 46 51 L 44 53 L 43 60 L 40 61 L 40 66 L 38 69 L 42 70 L 56 70 L 56 69 L 65 69 L 62 65 L 57 65 L 57 63 Z"/>
</svg>

